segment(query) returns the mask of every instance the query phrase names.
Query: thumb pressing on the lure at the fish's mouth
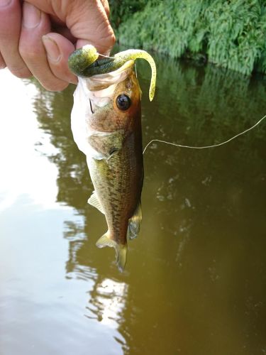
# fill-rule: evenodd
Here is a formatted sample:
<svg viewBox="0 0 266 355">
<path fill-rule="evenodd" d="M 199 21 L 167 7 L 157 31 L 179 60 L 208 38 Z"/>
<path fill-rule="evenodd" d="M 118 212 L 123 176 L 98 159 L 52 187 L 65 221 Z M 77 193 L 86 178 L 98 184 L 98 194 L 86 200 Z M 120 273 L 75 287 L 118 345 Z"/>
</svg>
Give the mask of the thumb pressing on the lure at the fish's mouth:
<svg viewBox="0 0 266 355">
<path fill-rule="evenodd" d="M 77 48 L 92 44 L 100 54 L 108 55 L 115 43 L 115 35 L 109 22 L 104 2 L 101 0 L 69 1 L 66 24 L 77 38 Z"/>
</svg>

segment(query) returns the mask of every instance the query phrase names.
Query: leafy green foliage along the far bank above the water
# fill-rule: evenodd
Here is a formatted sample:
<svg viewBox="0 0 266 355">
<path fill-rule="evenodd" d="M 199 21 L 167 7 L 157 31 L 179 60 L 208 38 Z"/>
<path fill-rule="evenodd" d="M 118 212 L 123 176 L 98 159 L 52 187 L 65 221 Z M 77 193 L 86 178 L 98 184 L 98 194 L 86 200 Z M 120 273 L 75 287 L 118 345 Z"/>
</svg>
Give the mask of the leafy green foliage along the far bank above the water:
<svg viewBox="0 0 266 355">
<path fill-rule="evenodd" d="M 250 75 L 266 72 L 266 6 L 262 0 L 112 0 L 119 43 L 172 58 L 208 58 Z M 126 6 L 126 4 L 132 4 Z M 117 20 L 119 18 L 119 21 Z"/>
</svg>

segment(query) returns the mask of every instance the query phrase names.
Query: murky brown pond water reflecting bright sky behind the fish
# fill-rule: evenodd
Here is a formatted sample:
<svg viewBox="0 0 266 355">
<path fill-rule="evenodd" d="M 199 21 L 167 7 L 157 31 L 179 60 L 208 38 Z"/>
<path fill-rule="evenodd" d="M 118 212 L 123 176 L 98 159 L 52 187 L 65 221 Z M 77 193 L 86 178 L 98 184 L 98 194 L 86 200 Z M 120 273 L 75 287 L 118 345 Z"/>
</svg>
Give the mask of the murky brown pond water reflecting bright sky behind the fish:
<svg viewBox="0 0 266 355">
<path fill-rule="evenodd" d="M 143 143 L 226 140 L 266 114 L 265 79 L 157 57 Z M 0 354 L 266 354 L 266 122 L 220 148 L 153 143 L 126 271 L 72 141 L 73 87 L 0 72 Z"/>
</svg>

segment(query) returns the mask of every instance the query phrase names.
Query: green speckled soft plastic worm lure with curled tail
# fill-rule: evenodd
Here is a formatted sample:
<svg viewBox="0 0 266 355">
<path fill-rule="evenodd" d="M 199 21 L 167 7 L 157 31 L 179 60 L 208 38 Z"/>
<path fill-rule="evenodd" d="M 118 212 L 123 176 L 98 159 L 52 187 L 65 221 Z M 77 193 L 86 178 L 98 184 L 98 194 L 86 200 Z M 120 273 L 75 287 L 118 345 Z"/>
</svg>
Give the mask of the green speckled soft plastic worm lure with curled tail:
<svg viewBox="0 0 266 355">
<path fill-rule="evenodd" d="M 84 45 L 84 47 L 75 50 L 68 60 L 70 70 L 79 77 L 92 77 L 93 75 L 113 72 L 124 65 L 128 60 L 142 58 L 148 61 L 152 70 L 150 80 L 149 98 L 153 100 L 156 84 L 156 65 L 153 57 L 145 50 L 129 49 L 116 53 L 113 57 L 106 57 L 98 60 L 99 53 L 93 45 Z"/>
</svg>

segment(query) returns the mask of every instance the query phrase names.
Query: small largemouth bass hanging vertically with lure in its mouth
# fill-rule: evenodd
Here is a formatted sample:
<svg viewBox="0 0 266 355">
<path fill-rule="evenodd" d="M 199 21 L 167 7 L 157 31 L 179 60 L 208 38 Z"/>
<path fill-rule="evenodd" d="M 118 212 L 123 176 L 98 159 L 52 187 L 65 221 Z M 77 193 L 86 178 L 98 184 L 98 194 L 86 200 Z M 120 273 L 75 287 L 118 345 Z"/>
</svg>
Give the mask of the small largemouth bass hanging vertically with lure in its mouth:
<svg viewBox="0 0 266 355">
<path fill-rule="evenodd" d="M 94 185 L 88 202 L 105 215 L 108 226 L 96 246 L 113 247 L 123 271 L 127 239 L 138 236 L 142 218 L 143 148 L 134 61 L 126 58 L 117 67 L 79 77 L 71 117 L 74 141 L 87 156 Z"/>
</svg>

